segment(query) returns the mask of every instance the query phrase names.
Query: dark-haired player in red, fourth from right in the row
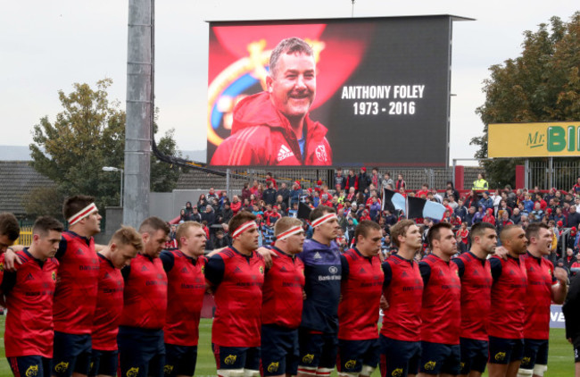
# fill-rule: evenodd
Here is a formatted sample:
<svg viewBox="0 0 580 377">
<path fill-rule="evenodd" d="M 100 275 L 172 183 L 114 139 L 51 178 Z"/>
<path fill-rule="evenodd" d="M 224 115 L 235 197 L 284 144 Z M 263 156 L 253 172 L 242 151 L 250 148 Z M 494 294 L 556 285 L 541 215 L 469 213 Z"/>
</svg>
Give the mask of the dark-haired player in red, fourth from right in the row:
<svg viewBox="0 0 580 377">
<path fill-rule="evenodd" d="M 431 254 L 419 262 L 423 277 L 421 308 L 421 362 L 419 376 L 455 376 L 460 373 L 461 282 L 457 239 L 449 222 L 438 222 L 427 233 Z"/>
</svg>

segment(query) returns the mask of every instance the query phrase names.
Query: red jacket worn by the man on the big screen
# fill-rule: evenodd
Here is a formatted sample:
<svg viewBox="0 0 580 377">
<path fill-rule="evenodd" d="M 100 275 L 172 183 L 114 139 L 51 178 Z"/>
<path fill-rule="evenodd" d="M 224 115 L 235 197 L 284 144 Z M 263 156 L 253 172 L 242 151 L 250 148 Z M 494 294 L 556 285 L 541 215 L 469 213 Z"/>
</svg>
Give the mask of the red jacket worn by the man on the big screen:
<svg viewBox="0 0 580 377">
<path fill-rule="evenodd" d="M 331 165 L 327 128 L 307 115 L 304 155 L 294 130 L 272 105 L 269 93 L 247 96 L 234 109 L 232 134 L 211 157 L 211 165 Z"/>
</svg>

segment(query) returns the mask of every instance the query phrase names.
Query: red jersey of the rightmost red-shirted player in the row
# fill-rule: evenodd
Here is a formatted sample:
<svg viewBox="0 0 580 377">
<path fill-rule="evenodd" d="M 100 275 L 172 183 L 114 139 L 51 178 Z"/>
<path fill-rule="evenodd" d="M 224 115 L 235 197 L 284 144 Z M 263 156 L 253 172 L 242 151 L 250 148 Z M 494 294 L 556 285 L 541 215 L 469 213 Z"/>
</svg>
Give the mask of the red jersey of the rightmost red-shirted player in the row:
<svg viewBox="0 0 580 377">
<path fill-rule="evenodd" d="M 556 282 L 554 265 L 529 252 L 522 259 L 527 272 L 524 338 L 550 339 L 551 285 Z"/>
</svg>

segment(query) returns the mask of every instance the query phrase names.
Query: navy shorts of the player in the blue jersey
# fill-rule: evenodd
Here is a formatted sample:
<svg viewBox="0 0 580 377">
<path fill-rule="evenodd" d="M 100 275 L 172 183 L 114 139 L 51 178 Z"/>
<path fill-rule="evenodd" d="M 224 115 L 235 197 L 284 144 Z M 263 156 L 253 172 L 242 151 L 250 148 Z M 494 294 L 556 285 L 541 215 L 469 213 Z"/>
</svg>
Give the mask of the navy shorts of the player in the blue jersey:
<svg viewBox="0 0 580 377">
<path fill-rule="evenodd" d="M 298 329 L 299 366 L 334 369 L 338 353 L 338 334 Z"/>
</svg>

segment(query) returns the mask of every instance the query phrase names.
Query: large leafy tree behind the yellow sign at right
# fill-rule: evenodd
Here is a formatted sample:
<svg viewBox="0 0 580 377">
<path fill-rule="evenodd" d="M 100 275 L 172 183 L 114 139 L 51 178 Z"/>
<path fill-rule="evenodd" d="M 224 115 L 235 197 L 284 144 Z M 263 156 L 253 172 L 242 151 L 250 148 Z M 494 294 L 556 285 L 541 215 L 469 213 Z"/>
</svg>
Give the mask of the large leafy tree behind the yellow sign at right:
<svg viewBox="0 0 580 377">
<path fill-rule="evenodd" d="M 476 113 L 484 135 L 472 138 L 476 158 L 487 157 L 489 123 L 580 120 L 580 13 L 568 23 L 552 17 L 550 25 L 524 32 L 522 54 L 490 67 L 484 81 L 485 104 Z M 490 187 L 515 183 L 515 165 L 523 160 L 488 160 L 483 165 Z"/>
</svg>

